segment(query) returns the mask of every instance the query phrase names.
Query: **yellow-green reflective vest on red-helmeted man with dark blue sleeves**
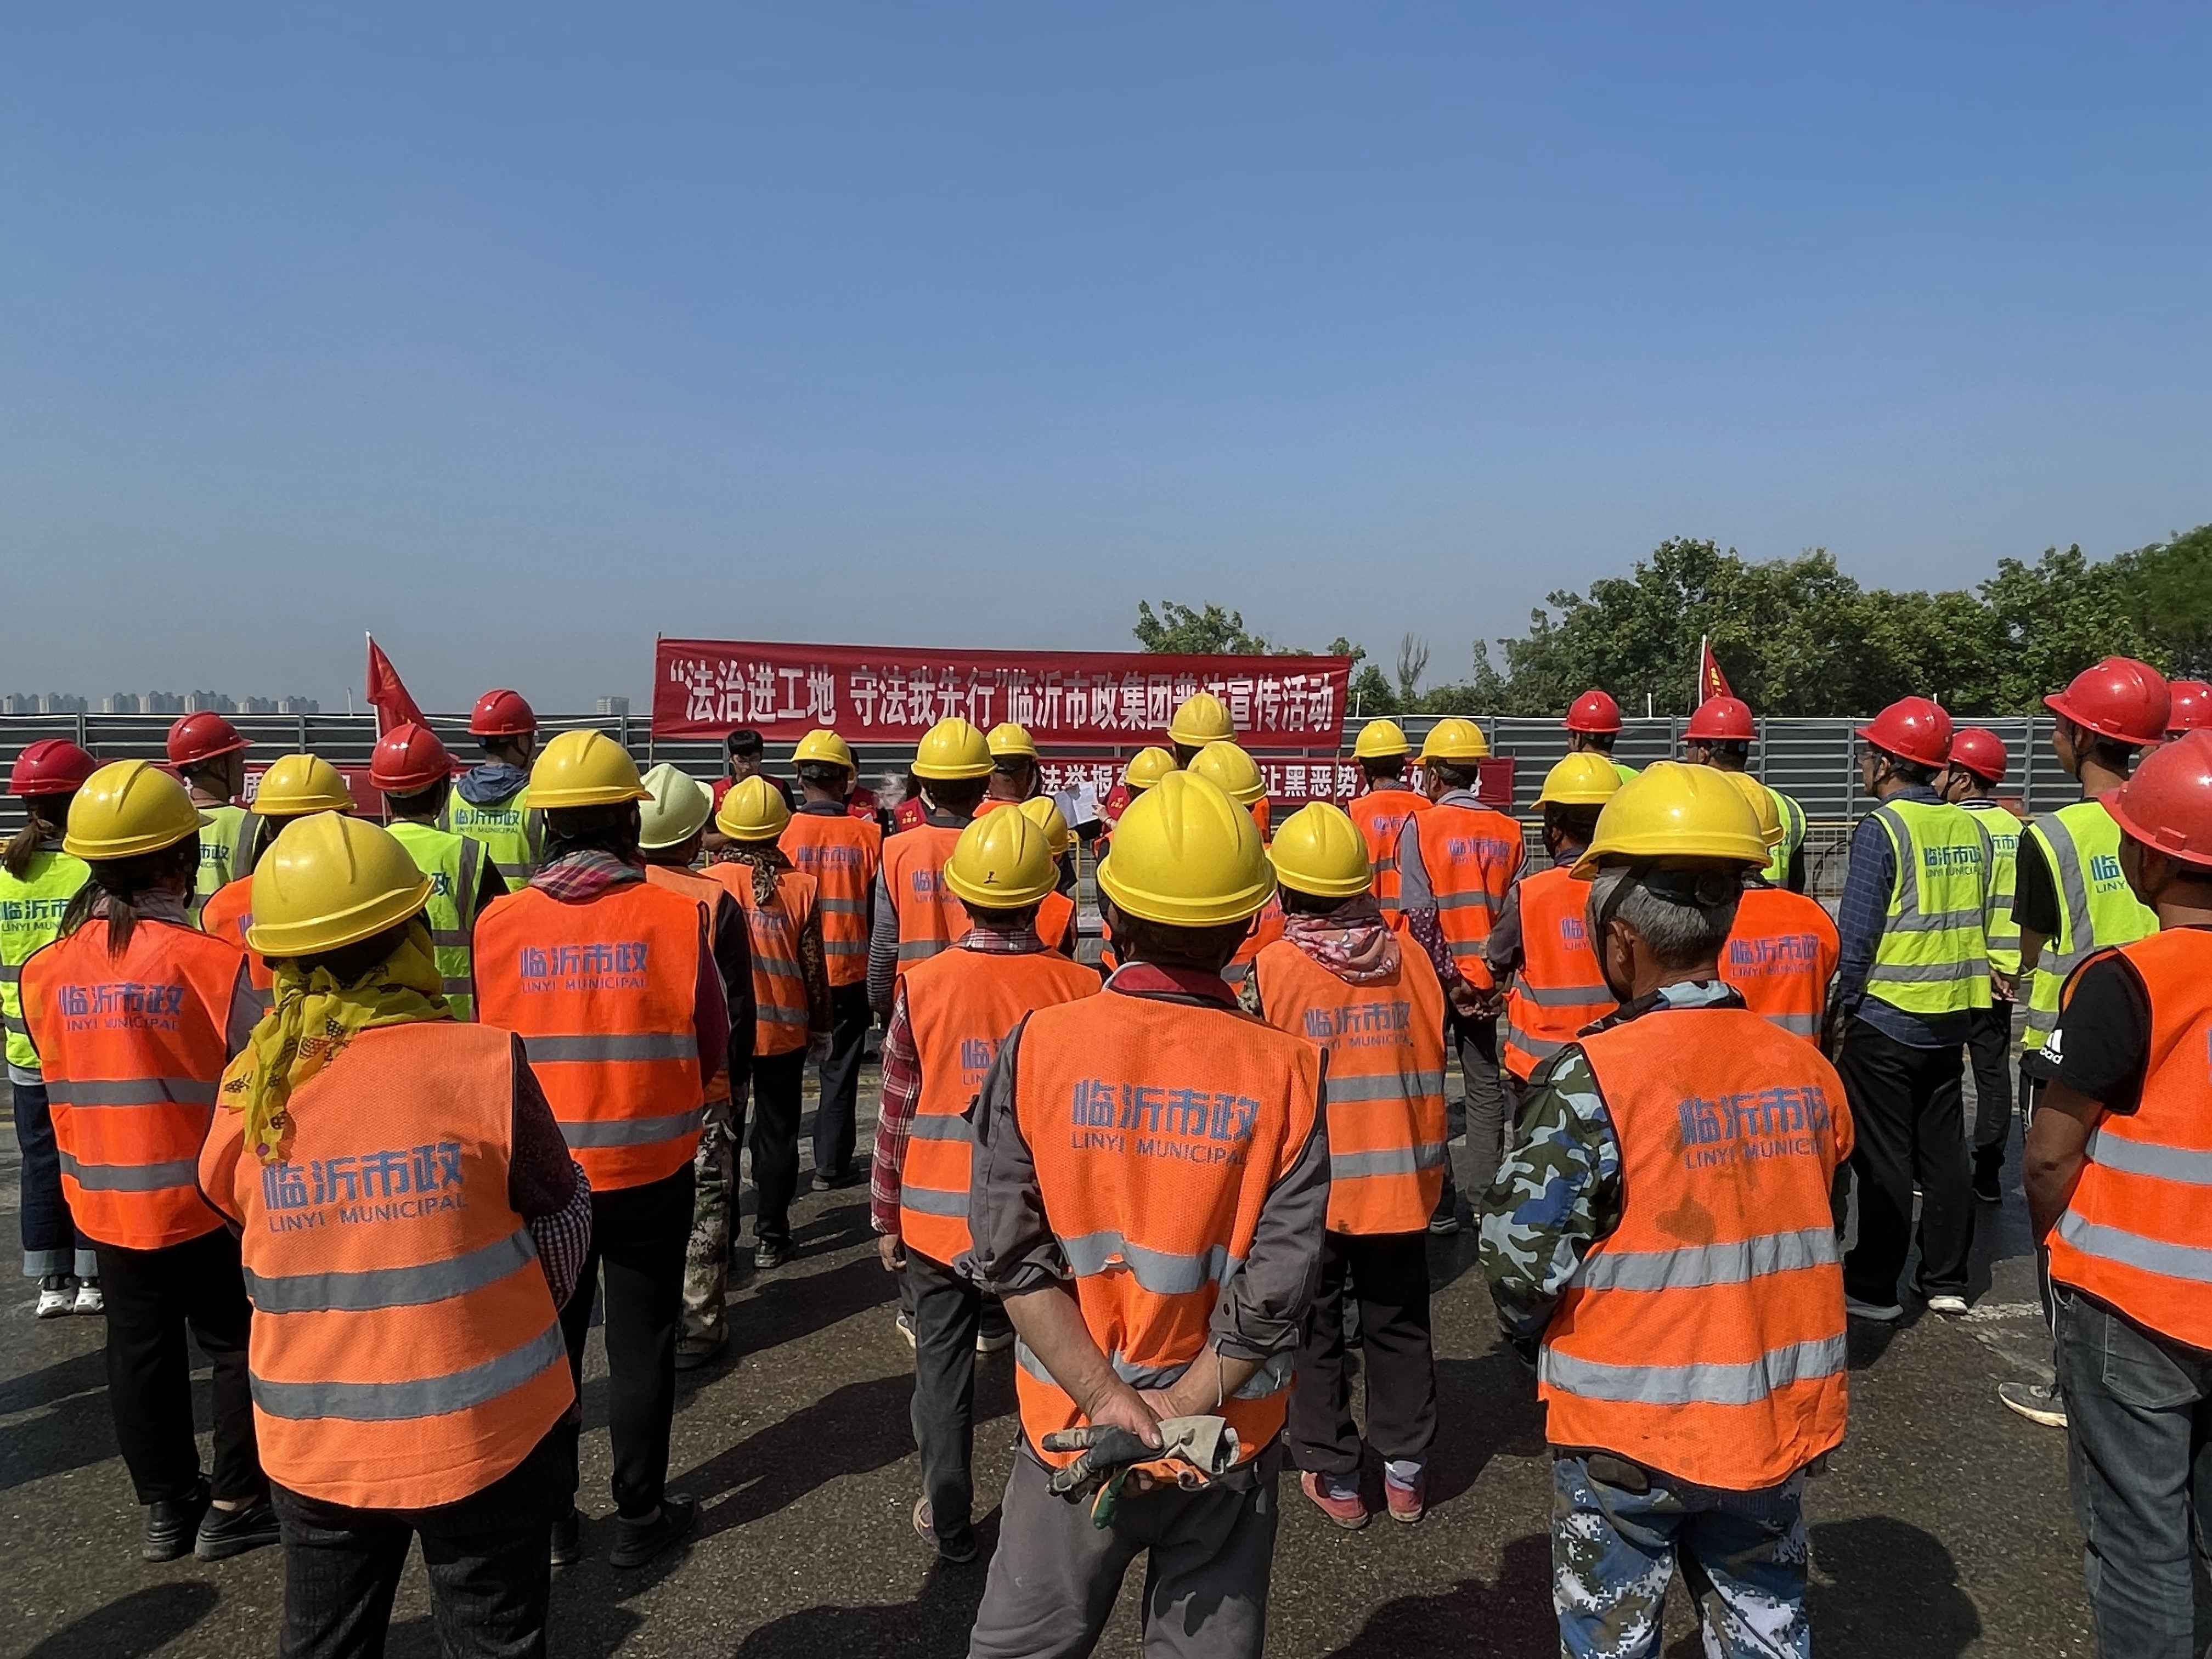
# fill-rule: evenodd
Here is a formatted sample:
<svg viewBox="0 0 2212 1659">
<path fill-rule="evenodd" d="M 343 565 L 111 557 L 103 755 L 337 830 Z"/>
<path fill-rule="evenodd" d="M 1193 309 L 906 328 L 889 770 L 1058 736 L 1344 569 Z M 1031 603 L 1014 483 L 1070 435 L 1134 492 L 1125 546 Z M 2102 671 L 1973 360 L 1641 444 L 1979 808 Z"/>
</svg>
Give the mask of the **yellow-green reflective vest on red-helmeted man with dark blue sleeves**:
<svg viewBox="0 0 2212 1659">
<path fill-rule="evenodd" d="M 1871 816 L 1889 836 L 1896 876 L 1867 995 L 1918 1015 L 1986 1009 L 1989 832 L 1940 801 L 1885 801 Z"/>
</svg>

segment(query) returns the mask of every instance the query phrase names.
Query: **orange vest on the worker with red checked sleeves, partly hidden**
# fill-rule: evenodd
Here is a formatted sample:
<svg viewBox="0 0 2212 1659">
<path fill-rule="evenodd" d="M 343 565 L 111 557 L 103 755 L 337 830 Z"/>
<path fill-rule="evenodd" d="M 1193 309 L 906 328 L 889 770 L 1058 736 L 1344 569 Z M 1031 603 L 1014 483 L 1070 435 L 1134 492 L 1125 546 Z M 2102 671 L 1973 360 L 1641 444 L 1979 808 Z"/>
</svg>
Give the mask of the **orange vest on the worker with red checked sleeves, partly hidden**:
<svg viewBox="0 0 2212 1659">
<path fill-rule="evenodd" d="M 975 1137 L 967 1108 L 982 1075 L 1024 1013 L 1097 995 L 1099 975 L 1051 951 L 956 949 L 916 962 L 900 980 L 922 1093 L 898 1175 L 898 1237 L 931 1261 L 951 1263 L 973 1248 L 967 1194 Z"/>
</svg>

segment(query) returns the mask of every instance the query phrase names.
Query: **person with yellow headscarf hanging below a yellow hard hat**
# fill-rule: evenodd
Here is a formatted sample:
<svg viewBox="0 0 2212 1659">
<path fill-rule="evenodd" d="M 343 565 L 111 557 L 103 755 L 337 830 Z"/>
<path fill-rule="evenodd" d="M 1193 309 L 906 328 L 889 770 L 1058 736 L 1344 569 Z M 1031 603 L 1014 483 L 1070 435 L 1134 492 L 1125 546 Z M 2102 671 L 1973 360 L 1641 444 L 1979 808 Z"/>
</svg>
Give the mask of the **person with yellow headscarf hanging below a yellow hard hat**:
<svg viewBox="0 0 2212 1659">
<path fill-rule="evenodd" d="M 380 1650 L 420 1533 L 447 1652 L 544 1655 L 549 1537 L 575 1502 L 560 1305 L 591 1186 L 522 1042 L 453 1020 L 434 880 L 396 836 L 294 818 L 254 883 L 276 1009 L 223 1073 L 199 1186 L 254 1301 L 276 1650 Z M 345 1203 L 325 1170 L 356 1161 L 374 1190 Z M 405 1206 L 405 1228 L 372 1219 L 400 1194 L 438 1201 Z"/>
</svg>

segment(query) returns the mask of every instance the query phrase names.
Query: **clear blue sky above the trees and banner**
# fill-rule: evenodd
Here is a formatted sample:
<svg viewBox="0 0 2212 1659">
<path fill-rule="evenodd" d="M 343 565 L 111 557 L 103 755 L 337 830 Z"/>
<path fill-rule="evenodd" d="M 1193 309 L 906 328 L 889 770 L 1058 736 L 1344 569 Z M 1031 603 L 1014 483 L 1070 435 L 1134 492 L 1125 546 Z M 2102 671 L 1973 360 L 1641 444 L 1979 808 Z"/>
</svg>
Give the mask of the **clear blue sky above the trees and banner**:
<svg viewBox="0 0 2212 1659">
<path fill-rule="evenodd" d="M 1444 679 L 1666 535 L 2212 518 L 2201 0 L 88 11 L 7 31 L 0 690 L 1161 595 Z"/>
</svg>

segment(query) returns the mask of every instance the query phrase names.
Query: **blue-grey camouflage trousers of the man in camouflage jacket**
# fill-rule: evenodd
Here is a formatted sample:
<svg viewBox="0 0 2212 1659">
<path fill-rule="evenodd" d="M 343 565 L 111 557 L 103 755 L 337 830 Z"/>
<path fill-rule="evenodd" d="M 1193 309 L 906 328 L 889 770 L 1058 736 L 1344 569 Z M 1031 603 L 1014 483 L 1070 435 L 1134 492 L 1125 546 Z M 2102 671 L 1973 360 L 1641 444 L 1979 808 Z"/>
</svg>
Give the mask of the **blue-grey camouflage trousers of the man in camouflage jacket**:
<svg viewBox="0 0 2212 1659">
<path fill-rule="evenodd" d="M 1805 1475 L 1714 1491 L 1601 1453 L 1553 1453 L 1551 1599 L 1566 1659 L 1657 1655 L 1677 1557 L 1708 1659 L 1809 1659 Z"/>
</svg>

